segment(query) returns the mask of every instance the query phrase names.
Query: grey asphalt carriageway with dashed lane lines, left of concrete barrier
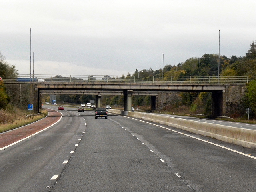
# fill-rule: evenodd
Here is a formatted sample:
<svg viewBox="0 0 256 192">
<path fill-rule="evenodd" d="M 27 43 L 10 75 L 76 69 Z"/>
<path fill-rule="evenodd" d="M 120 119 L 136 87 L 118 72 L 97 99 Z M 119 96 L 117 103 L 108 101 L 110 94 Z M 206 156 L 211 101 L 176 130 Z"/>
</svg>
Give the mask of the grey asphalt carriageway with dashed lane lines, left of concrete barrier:
<svg viewBox="0 0 256 192">
<path fill-rule="evenodd" d="M 0 150 L 0 191 L 256 191 L 255 150 L 127 116 L 60 113 Z"/>
</svg>

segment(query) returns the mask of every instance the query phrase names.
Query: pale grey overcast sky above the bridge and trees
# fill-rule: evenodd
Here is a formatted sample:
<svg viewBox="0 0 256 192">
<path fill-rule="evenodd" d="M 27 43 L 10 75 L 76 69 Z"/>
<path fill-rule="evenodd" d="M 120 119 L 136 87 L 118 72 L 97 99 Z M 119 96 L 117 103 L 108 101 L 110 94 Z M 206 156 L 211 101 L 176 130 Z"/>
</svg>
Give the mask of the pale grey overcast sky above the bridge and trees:
<svg viewBox="0 0 256 192">
<path fill-rule="evenodd" d="M 19 74 L 121 76 L 218 54 L 219 40 L 245 56 L 256 40 L 255 0 L 1 2 L 0 53 Z"/>
</svg>

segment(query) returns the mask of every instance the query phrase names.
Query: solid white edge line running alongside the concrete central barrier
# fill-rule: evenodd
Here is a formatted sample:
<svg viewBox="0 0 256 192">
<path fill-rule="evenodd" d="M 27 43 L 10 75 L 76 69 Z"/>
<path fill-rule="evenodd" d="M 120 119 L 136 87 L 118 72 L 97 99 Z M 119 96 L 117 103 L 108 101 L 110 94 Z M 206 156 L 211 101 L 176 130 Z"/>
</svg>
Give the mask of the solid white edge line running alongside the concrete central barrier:
<svg viewBox="0 0 256 192">
<path fill-rule="evenodd" d="M 127 116 L 121 116 L 121 117 L 134 119 L 134 118 L 132 118 L 132 117 L 127 117 Z M 167 129 L 167 130 L 170 130 L 170 131 L 173 131 L 173 132 L 182 134 L 182 135 L 186 135 L 186 136 L 188 136 L 188 137 L 191 137 L 191 138 L 194 138 L 194 139 L 197 139 L 197 140 L 200 140 L 200 141 L 203 141 L 203 142 L 206 142 L 206 143 L 215 145 L 215 146 L 218 146 L 218 147 L 220 147 L 220 148 L 224 148 L 224 149 L 226 149 L 226 150 L 230 150 L 230 151 L 235 152 L 235 153 L 238 153 L 238 154 L 240 154 L 240 155 L 244 155 L 244 156 L 247 156 L 247 157 L 256 159 L 256 157 L 254 157 L 254 156 L 251 156 L 251 155 L 248 155 L 248 154 L 245 154 L 245 153 L 242 153 L 242 152 L 239 152 L 239 151 L 236 151 L 236 150 L 233 150 L 233 149 L 230 149 L 230 148 L 227 148 L 227 147 L 224 147 L 224 146 L 221 146 L 221 145 L 212 143 L 212 142 L 210 142 L 210 141 L 202 140 L 202 139 L 200 139 L 200 138 L 196 138 L 196 137 L 194 137 L 194 136 L 191 136 L 191 135 L 188 135 L 188 134 L 185 134 L 185 133 L 182 133 L 182 132 L 178 132 L 178 131 L 172 130 L 172 129 L 170 129 L 170 128 L 166 128 L 166 127 L 164 127 L 164 126 L 156 125 L 156 124 L 153 124 L 153 123 L 150 123 L 150 122 L 146 122 L 146 121 L 142 121 L 142 120 L 139 120 L 139 119 L 134 119 L 134 120 L 141 121 L 141 122 L 144 122 L 144 123 L 148 123 L 148 124 L 151 124 L 151 125 L 154 125 L 154 126 L 158 126 L 158 127 L 161 127 L 161 128 L 164 128 L 164 129 Z"/>
</svg>

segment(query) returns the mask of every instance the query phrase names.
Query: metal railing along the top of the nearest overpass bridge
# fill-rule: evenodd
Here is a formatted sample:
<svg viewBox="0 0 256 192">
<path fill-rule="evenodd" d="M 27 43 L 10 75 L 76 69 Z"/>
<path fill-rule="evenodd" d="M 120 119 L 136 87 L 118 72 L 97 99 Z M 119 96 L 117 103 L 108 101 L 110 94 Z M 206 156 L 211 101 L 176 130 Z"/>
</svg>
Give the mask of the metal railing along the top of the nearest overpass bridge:
<svg viewBox="0 0 256 192">
<path fill-rule="evenodd" d="M 111 83 L 207 83 L 246 84 L 246 76 L 104 76 L 104 75 L 14 75 L 0 74 L 4 81 L 18 82 L 111 82 Z"/>
</svg>

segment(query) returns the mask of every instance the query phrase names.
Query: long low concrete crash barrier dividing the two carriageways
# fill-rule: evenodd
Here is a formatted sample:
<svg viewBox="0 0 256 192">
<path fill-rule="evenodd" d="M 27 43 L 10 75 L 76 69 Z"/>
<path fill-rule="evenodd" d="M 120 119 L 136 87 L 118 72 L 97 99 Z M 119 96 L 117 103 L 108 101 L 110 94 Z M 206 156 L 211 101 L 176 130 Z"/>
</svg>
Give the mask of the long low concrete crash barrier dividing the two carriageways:
<svg viewBox="0 0 256 192">
<path fill-rule="evenodd" d="M 216 138 L 224 142 L 256 149 L 256 130 L 235 128 L 142 112 L 122 111 L 116 109 L 111 109 L 109 112 L 172 126 L 192 133 Z"/>
</svg>

